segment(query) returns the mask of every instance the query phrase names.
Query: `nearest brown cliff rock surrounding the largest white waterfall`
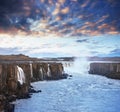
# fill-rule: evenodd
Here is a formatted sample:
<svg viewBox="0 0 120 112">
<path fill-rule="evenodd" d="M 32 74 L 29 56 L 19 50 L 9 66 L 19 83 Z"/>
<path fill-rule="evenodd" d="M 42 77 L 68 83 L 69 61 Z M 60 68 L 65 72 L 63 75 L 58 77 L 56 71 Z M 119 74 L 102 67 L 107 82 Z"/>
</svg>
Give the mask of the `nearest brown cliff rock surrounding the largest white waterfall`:
<svg viewBox="0 0 120 112">
<path fill-rule="evenodd" d="M 17 76 L 17 66 L 20 66 L 25 73 L 25 83 L 20 84 Z M 1 64 L 0 65 L 0 95 L 5 99 L 0 100 L 0 110 L 7 109 L 5 112 L 12 112 L 13 105 L 9 102 L 28 94 L 30 86 L 29 65 L 27 64 Z M 14 97 L 15 96 L 15 97 Z"/>
</svg>

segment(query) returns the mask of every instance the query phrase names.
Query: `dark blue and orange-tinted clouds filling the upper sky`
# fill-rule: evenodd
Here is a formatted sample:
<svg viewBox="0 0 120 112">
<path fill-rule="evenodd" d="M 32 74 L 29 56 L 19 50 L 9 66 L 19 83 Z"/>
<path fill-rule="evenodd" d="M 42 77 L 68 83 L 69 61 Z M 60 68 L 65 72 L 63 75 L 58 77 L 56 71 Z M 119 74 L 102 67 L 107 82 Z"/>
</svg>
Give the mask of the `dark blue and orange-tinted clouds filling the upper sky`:
<svg viewBox="0 0 120 112">
<path fill-rule="evenodd" d="M 119 34 L 119 5 L 118 0 L 1 0 L 0 32 Z"/>
</svg>

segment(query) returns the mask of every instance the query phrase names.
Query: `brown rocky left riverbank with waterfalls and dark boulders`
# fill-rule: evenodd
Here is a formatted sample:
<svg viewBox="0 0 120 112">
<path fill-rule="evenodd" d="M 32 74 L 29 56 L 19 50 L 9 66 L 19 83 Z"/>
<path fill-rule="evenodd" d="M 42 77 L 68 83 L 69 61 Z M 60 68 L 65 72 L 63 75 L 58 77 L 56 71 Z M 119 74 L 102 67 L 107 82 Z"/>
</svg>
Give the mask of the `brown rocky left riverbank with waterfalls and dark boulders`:
<svg viewBox="0 0 120 112">
<path fill-rule="evenodd" d="M 41 92 L 31 88 L 31 82 L 67 78 L 61 63 L 18 60 L 0 61 L 0 112 L 13 112 L 14 105 L 10 102 L 29 98 L 30 92 Z"/>
</svg>

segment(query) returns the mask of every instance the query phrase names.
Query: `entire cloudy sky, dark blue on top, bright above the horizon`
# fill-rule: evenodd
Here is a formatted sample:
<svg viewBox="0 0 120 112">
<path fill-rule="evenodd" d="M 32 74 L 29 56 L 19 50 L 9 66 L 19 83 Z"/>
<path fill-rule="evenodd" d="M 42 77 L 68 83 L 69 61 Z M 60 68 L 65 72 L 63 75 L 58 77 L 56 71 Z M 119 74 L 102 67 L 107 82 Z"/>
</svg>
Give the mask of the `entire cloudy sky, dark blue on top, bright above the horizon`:
<svg viewBox="0 0 120 112">
<path fill-rule="evenodd" d="M 1 0 L 0 54 L 120 56 L 119 0 Z"/>
</svg>

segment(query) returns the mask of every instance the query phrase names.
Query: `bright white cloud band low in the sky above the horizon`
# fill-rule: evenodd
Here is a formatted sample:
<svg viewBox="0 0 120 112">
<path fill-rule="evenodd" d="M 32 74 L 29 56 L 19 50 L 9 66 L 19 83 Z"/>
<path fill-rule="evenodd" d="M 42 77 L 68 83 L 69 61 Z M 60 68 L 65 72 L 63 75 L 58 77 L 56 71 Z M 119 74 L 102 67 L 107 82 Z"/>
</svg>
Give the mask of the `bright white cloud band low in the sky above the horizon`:
<svg viewBox="0 0 120 112">
<path fill-rule="evenodd" d="M 50 35 L 49 35 L 50 36 Z M 2 37 L 5 37 L 3 35 Z M 37 57 L 86 57 L 120 55 L 119 35 L 91 37 L 30 37 L 7 35 L 0 36 L 0 54 L 26 54 Z M 77 42 L 80 41 L 80 42 Z M 107 43 L 107 44 L 106 44 Z"/>
</svg>

